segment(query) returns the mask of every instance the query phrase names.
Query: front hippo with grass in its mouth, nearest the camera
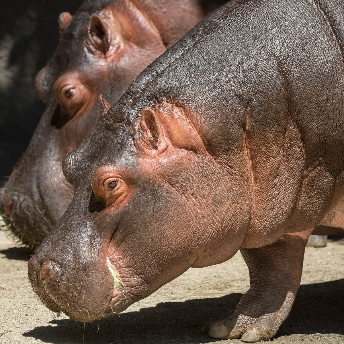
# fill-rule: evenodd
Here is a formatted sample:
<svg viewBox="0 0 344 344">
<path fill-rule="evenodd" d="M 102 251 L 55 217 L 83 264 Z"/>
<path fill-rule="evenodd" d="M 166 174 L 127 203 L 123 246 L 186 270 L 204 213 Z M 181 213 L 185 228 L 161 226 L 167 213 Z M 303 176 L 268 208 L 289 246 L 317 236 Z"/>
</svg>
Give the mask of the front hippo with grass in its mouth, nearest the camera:
<svg viewBox="0 0 344 344">
<path fill-rule="evenodd" d="M 63 161 L 73 200 L 28 263 L 42 302 L 94 321 L 240 249 L 250 288 L 202 331 L 272 338 L 308 237 L 344 232 L 343 13 L 340 0 L 230 1 L 101 99 Z"/>
</svg>

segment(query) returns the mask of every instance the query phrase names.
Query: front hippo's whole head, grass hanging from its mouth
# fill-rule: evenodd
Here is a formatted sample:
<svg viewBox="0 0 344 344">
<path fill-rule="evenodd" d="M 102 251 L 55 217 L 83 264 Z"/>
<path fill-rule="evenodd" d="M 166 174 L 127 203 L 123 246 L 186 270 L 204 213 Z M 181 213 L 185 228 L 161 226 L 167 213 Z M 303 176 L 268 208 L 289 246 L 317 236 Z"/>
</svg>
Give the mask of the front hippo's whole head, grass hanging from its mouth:
<svg viewBox="0 0 344 344">
<path fill-rule="evenodd" d="M 73 201 L 29 261 L 45 305 L 77 321 L 119 313 L 189 267 L 229 259 L 249 224 L 250 175 L 215 161 L 183 110 L 129 108 L 114 105 L 67 155 Z"/>
</svg>

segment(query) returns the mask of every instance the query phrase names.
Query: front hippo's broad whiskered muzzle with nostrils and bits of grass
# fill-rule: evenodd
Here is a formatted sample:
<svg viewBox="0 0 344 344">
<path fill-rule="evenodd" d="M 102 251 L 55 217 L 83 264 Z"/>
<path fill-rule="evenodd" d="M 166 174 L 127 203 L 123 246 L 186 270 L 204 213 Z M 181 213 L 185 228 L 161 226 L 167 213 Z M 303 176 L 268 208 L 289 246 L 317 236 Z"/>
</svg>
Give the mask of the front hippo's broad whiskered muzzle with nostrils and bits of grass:
<svg viewBox="0 0 344 344">
<path fill-rule="evenodd" d="M 77 233 L 63 224 L 83 229 Z M 122 295 L 119 274 L 106 257 L 108 240 L 91 232 L 89 221 L 77 226 L 66 219 L 57 227 L 60 235 L 52 232 L 29 261 L 33 289 L 53 312 L 82 322 L 101 319 L 111 312 L 111 298 Z M 96 247 L 99 242 L 105 245 Z"/>
</svg>

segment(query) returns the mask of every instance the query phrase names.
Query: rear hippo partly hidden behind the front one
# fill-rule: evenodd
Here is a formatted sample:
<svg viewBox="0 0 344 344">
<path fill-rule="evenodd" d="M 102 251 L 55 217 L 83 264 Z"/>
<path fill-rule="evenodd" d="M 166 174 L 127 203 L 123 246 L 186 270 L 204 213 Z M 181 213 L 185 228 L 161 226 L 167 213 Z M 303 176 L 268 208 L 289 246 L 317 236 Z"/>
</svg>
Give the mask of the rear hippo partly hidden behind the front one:
<svg viewBox="0 0 344 344">
<path fill-rule="evenodd" d="M 60 43 L 36 77 L 46 110 L 0 192 L 0 214 L 24 244 L 39 246 L 71 202 L 62 159 L 95 126 L 99 94 L 114 103 L 148 64 L 224 2 L 86 0 L 73 17 L 60 15 Z"/>
</svg>

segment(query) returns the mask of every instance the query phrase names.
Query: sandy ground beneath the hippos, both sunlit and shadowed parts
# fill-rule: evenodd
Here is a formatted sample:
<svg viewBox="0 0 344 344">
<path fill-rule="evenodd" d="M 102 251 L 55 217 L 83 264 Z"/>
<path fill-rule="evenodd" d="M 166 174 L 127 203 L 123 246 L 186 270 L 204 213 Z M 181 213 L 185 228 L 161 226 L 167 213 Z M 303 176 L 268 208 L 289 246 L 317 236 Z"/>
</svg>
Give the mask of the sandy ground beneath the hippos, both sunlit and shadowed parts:
<svg viewBox="0 0 344 344">
<path fill-rule="evenodd" d="M 302 285 L 276 344 L 344 343 L 344 239 L 307 248 Z M 27 279 L 30 252 L 0 232 L 0 344 L 83 342 L 83 323 L 45 308 Z M 84 343 L 242 343 L 216 341 L 203 323 L 233 307 L 248 289 L 248 270 L 237 254 L 229 261 L 190 269 L 127 311 L 86 324 Z"/>
</svg>

